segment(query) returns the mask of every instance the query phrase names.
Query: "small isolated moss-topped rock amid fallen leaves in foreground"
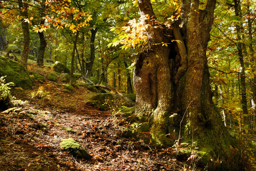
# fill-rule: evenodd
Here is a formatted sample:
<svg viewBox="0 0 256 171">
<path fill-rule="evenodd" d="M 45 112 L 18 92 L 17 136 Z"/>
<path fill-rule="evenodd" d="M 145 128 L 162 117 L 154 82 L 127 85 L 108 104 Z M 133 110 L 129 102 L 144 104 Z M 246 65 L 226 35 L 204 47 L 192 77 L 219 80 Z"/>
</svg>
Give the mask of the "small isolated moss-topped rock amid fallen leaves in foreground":
<svg viewBox="0 0 256 171">
<path fill-rule="evenodd" d="M 75 155 L 79 158 L 84 158 L 85 160 L 90 159 L 90 155 L 85 151 L 82 146 L 77 143 L 75 140 L 63 139 L 60 143 L 61 147 L 63 147 L 69 153 Z"/>
</svg>

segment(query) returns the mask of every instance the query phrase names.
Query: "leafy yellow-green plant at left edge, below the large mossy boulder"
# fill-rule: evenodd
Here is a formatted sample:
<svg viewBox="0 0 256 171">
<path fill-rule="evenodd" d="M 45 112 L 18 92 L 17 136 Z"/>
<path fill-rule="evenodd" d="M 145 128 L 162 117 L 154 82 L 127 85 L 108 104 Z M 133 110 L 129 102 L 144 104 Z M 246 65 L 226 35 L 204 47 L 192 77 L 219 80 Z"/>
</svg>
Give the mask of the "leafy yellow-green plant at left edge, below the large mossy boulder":
<svg viewBox="0 0 256 171">
<path fill-rule="evenodd" d="M 4 77 L 0 77 L 0 110 L 6 110 L 11 107 L 12 98 L 14 98 L 10 92 L 10 86 L 14 86 L 15 83 L 5 83 Z"/>
</svg>

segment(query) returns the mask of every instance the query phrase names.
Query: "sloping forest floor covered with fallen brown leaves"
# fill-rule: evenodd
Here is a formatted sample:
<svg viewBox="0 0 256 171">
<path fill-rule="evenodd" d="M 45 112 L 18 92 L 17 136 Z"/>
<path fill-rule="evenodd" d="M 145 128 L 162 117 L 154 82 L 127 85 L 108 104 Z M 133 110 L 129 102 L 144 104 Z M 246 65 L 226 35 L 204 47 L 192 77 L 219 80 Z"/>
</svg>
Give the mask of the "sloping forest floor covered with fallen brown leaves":
<svg viewBox="0 0 256 171">
<path fill-rule="evenodd" d="M 32 98 L 42 89 L 48 92 L 45 98 Z M 1 171 L 190 170 L 187 158 L 175 158 L 175 148 L 156 149 L 121 137 L 120 129 L 127 123 L 113 117 L 111 110 L 85 105 L 92 92 L 84 87 L 72 93 L 62 90 L 47 81 L 35 83 L 32 90 L 12 91 L 15 108 L 0 114 Z M 61 148 L 62 139 L 76 140 L 91 158 L 73 157 Z"/>
</svg>

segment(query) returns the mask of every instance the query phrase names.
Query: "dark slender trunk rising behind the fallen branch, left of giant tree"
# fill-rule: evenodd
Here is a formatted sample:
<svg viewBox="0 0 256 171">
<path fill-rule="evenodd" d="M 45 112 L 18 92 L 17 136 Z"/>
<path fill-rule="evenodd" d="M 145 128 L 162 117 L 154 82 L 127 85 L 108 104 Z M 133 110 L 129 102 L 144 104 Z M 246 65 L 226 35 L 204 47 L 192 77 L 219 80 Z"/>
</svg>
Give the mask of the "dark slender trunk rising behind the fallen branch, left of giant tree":
<svg viewBox="0 0 256 171">
<path fill-rule="evenodd" d="M 92 76 L 92 69 L 93 69 L 93 63 L 95 58 L 95 37 L 96 33 L 98 31 L 98 28 L 91 29 L 91 37 L 90 37 L 90 58 L 89 61 L 86 63 L 86 77 L 90 78 Z"/>
</svg>

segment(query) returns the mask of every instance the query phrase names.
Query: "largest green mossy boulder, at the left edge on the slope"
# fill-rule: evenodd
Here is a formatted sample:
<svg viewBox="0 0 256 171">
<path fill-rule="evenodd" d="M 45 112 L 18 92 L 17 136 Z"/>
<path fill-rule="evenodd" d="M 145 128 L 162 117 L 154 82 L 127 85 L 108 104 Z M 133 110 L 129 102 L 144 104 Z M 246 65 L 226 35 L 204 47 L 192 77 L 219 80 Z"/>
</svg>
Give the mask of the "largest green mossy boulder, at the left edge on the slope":
<svg viewBox="0 0 256 171">
<path fill-rule="evenodd" d="M 15 87 L 31 89 L 33 86 L 32 78 L 20 63 L 8 57 L 0 56 L 0 77 L 3 76 L 6 76 L 6 83 L 13 82 Z"/>
</svg>

